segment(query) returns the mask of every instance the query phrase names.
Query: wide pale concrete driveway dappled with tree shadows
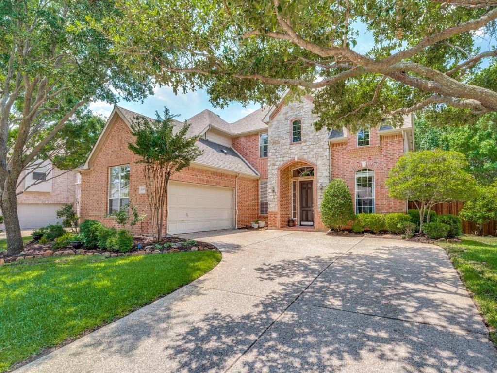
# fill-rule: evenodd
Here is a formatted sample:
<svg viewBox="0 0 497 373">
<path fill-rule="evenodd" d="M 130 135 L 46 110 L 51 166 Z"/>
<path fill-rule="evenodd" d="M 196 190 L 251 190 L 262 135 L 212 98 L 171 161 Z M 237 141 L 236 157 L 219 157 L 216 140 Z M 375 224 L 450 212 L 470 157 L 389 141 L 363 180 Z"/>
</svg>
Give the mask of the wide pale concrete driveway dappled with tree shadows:
<svg viewBox="0 0 497 373">
<path fill-rule="evenodd" d="M 218 231 L 204 277 L 17 372 L 496 372 L 443 249 Z"/>
</svg>

